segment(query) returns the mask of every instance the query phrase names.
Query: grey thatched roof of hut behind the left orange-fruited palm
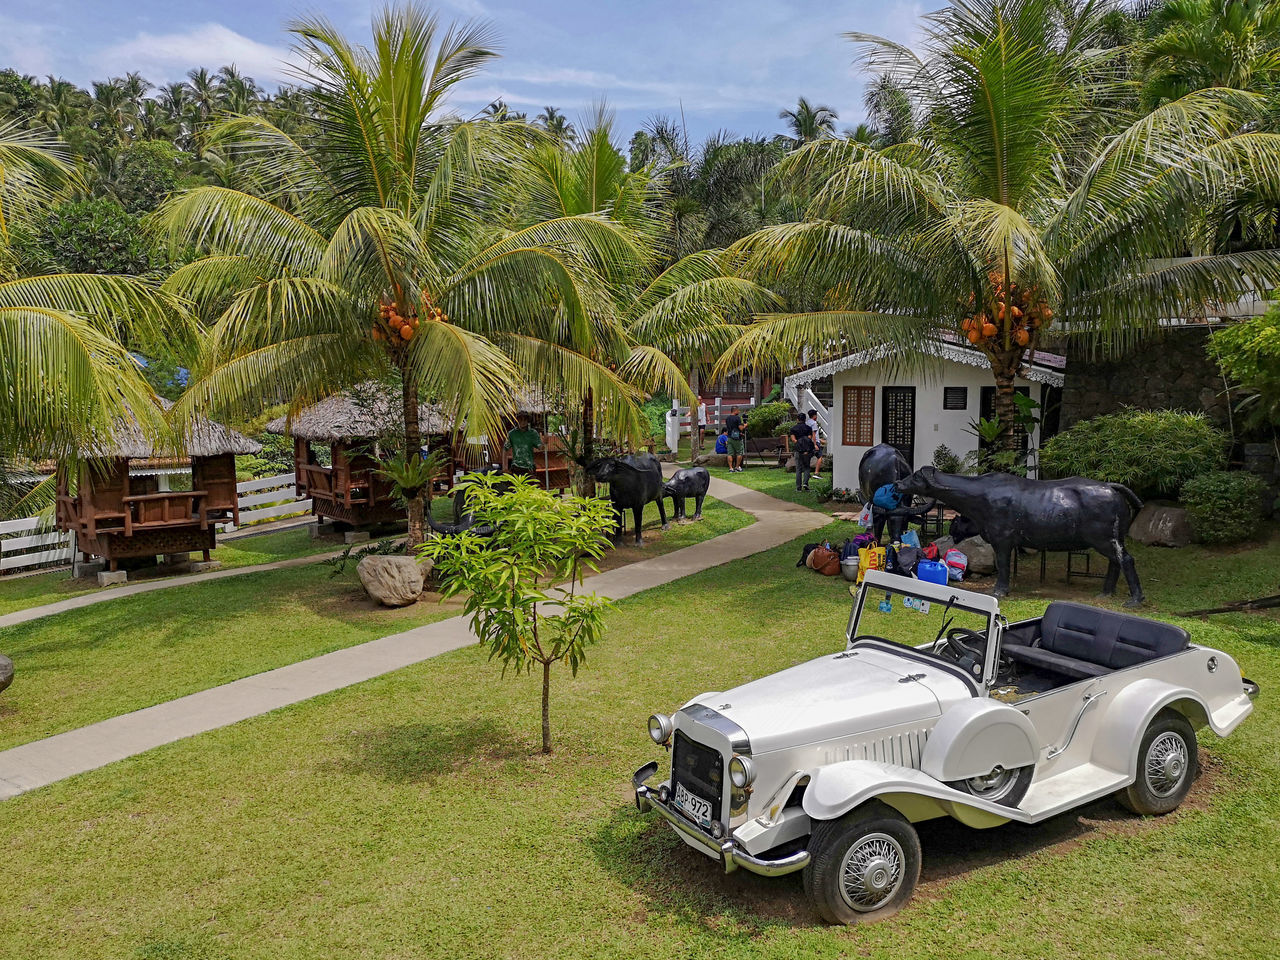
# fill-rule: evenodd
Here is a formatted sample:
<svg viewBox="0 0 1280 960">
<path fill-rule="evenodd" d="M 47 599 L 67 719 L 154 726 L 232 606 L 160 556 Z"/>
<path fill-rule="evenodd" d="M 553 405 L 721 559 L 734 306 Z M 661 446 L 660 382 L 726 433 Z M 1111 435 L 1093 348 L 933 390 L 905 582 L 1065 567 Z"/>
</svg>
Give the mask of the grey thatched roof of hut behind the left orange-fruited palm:
<svg viewBox="0 0 1280 960">
<path fill-rule="evenodd" d="M 443 434 L 453 422 L 431 403 L 417 410 L 424 434 Z M 399 396 L 381 384 L 360 384 L 312 403 L 292 420 L 276 417 L 266 425 L 269 433 L 285 434 L 308 443 L 340 443 L 404 435 L 404 406 Z"/>
</svg>

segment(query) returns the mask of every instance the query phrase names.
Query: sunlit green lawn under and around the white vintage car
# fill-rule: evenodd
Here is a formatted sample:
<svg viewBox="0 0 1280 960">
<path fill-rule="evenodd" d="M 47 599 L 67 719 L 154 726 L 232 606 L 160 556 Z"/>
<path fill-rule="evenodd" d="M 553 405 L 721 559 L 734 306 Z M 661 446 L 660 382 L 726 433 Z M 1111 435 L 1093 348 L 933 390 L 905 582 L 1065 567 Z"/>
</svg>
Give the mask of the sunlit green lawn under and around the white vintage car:
<svg viewBox="0 0 1280 960">
<path fill-rule="evenodd" d="M 1274 956 L 1275 617 L 1185 621 L 1263 692 L 1233 737 L 1206 737 L 1181 810 L 1143 820 L 1105 800 L 1037 827 L 923 824 L 922 888 L 874 927 L 823 927 L 797 876 L 726 877 L 637 814 L 628 777 L 662 756 L 650 712 L 840 648 L 847 585 L 796 570 L 797 550 L 620 603 L 579 677 L 556 676 L 550 758 L 538 678 L 468 648 L 0 804 L 0 954 Z M 1229 558 L 1144 552 L 1139 568 L 1164 614 L 1274 590 L 1277 562 L 1274 539 Z"/>
</svg>

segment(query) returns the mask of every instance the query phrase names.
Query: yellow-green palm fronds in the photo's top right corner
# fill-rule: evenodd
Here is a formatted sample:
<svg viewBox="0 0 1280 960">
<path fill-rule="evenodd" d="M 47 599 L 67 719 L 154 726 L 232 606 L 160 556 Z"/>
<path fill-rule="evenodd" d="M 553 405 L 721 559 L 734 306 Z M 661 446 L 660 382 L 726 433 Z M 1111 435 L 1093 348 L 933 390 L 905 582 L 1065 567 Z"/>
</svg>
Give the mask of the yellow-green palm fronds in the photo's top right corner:
<svg viewBox="0 0 1280 960">
<path fill-rule="evenodd" d="M 1143 100 L 1176 100 L 1204 87 L 1267 92 L 1280 83 L 1280 3 L 1169 0 L 1144 23 Z"/>
</svg>

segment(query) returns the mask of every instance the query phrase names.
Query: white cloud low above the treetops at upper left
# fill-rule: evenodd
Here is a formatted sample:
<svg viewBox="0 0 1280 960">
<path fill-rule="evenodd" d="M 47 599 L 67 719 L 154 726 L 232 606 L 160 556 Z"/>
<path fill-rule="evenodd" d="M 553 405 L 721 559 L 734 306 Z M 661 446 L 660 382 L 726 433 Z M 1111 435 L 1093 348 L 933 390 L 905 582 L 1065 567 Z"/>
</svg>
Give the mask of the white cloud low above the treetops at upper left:
<svg viewBox="0 0 1280 960">
<path fill-rule="evenodd" d="M 180 33 L 140 32 L 132 40 L 95 51 L 91 63 L 115 76 L 138 70 L 154 83 L 180 79 L 195 67 L 214 69 L 236 64 L 239 72 L 259 83 L 292 79 L 289 50 L 260 44 L 220 23 L 202 23 Z"/>
</svg>

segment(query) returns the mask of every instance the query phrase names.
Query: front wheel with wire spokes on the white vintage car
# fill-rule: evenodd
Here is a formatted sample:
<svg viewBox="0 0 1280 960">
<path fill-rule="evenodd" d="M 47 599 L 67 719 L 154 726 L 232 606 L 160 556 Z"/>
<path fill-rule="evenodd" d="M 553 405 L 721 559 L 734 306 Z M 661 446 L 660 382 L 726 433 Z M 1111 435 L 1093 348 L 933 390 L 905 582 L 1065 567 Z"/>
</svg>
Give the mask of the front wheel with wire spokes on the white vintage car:
<svg viewBox="0 0 1280 960">
<path fill-rule="evenodd" d="M 804 890 L 828 923 L 896 914 L 920 878 L 920 838 L 897 810 L 873 800 L 814 826 Z"/>
</svg>

